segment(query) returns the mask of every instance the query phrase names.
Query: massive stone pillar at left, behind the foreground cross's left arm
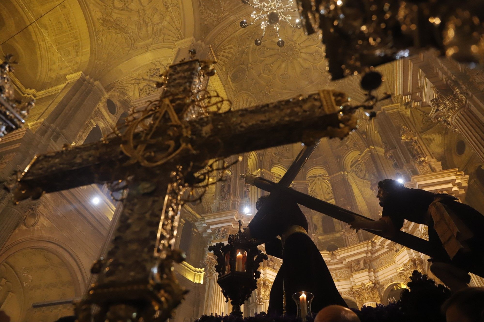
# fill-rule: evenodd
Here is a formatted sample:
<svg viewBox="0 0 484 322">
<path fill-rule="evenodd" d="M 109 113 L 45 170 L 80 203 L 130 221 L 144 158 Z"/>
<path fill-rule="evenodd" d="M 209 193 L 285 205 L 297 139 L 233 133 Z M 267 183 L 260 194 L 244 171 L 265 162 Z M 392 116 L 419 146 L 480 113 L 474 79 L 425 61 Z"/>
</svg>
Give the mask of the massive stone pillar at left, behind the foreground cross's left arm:
<svg viewBox="0 0 484 322">
<path fill-rule="evenodd" d="M 16 170 L 23 170 L 35 154 L 75 143 L 96 105 L 106 96 L 103 86 L 82 72 L 66 78 L 65 86 L 53 95 L 53 99 L 39 99 L 39 104 L 26 120 L 25 128 L 6 135 L 0 141 L 0 181 Z M 8 195 L 5 197 L 8 198 Z M 8 202 L 3 201 L 0 209 Z M 23 215 L 16 209 L 3 209 L 0 214 L 0 248 Z"/>
</svg>

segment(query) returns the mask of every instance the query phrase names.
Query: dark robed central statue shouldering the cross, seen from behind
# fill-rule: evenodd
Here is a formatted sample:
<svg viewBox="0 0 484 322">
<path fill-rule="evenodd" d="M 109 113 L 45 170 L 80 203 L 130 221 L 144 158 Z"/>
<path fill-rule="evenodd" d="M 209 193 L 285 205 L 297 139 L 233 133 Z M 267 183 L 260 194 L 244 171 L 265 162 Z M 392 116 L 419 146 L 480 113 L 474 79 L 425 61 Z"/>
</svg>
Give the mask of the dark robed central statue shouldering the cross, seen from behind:
<svg viewBox="0 0 484 322">
<path fill-rule="evenodd" d="M 268 313 L 282 314 L 285 302 L 287 314 L 296 315 L 292 294 L 301 291 L 314 294 L 313 312 L 328 305 L 347 307 L 294 201 L 277 199 L 264 220 L 252 220 L 248 227 L 252 237 L 265 242 L 266 252 L 283 262 L 272 284 Z"/>
</svg>

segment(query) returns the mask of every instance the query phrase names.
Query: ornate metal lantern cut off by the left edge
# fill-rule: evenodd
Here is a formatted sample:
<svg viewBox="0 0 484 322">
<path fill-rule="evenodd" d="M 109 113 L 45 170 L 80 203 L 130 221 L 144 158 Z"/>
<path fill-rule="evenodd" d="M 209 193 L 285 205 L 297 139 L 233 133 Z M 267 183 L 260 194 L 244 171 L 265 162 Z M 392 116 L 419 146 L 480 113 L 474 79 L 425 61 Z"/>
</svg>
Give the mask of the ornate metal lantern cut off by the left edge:
<svg viewBox="0 0 484 322">
<path fill-rule="evenodd" d="M 13 71 L 12 55 L 5 55 L 0 64 L 0 138 L 6 134 L 20 129 L 25 123 L 24 117 L 29 114 L 34 100 L 19 101 L 15 99 L 14 89 L 9 73 Z"/>
</svg>

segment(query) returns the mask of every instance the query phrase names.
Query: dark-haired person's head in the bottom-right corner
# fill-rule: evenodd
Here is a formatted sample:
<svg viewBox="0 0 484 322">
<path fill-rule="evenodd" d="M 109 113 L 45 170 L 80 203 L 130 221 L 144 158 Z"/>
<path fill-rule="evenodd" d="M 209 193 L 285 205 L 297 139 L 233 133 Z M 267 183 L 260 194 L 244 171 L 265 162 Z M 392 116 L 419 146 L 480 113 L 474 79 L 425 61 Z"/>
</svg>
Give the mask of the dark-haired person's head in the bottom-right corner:
<svg viewBox="0 0 484 322">
<path fill-rule="evenodd" d="M 442 305 L 442 312 L 447 322 L 484 322 L 484 288 L 455 292 Z"/>
</svg>

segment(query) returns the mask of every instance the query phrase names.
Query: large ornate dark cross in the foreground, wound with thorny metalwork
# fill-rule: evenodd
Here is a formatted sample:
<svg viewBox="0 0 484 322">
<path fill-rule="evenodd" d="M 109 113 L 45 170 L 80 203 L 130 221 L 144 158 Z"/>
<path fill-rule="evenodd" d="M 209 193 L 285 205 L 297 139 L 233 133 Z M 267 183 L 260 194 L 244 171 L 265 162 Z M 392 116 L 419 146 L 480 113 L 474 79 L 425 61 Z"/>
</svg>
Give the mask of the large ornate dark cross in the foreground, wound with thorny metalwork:
<svg viewBox="0 0 484 322">
<path fill-rule="evenodd" d="M 197 173 L 205 171 L 207 160 L 301 141 L 310 145 L 356 128 L 354 108 L 343 93 L 330 90 L 211 112 L 202 102 L 210 96 L 205 85 L 213 73 L 211 63 L 199 60 L 170 66 L 160 100 L 124 134 L 37 156 L 8 186 L 19 201 L 127 182 L 107 256 L 92 268 L 98 279 L 76 307 L 80 321 L 165 321 L 171 315 L 185 293 L 172 271 L 173 261 L 183 259 L 173 249 L 180 207 L 186 190 L 201 184 Z"/>
</svg>

